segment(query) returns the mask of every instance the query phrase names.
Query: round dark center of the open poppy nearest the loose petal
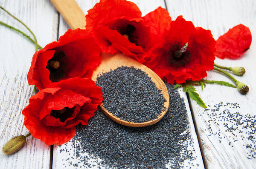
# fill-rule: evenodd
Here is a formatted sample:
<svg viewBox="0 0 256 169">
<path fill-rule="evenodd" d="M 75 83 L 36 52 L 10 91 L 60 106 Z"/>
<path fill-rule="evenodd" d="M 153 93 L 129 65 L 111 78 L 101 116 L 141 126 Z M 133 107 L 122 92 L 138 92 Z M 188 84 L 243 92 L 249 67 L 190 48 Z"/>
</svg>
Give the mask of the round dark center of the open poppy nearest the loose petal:
<svg viewBox="0 0 256 169">
<path fill-rule="evenodd" d="M 189 52 L 186 44 L 182 42 L 175 42 L 169 46 L 169 50 L 166 51 L 167 60 L 173 66 L 185 66 L 189 63 L 191 53 Z"/>
</svg>

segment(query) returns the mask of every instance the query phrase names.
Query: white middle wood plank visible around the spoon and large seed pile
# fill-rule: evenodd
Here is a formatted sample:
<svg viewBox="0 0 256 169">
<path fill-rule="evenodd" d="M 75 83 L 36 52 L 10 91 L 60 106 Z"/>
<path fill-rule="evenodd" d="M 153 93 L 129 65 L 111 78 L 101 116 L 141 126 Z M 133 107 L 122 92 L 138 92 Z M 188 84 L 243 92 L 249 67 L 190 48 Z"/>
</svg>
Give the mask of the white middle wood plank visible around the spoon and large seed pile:
<svg viewBox="0 0 256 169">
<path fill-rule="evenodd" d="M 97 3 L 98 1 L 97 2 L 89 1 L 90 2 L 89 3 L 88 1 L 85 2 L 82 0 L 76 0 L 76 2 L 79 4 L 79 6 L 83 10 L 84 14 L 87 14 L 87 11 L 90 8 L 92 8 L 94 6 L 94 4 Z M 158 6 L 162 6 L 163 8 L 165 8 L 165 3 L 163 0 L 157 0 L 157 1 L 149 0 L 146 3 L 143 0 L 132 0 L 132 2 L 137 4 L 137 6 L 142 11 L 143 16 L 145 14 L 147 14 L 148 12 L 153 11 Z M 67 29 L 69 29 L 69 26 L 67 25 L 67 23 L 65 23 L 64 19 L 62 17 L 60 17 L 59 35 L 64 34 L 64 32 L 66 32 Z M 192 162 L 190 160 L 186 160 L 184 162 L 183 166 L 185 166 L 185 168 L 186 167 L 189 168 L 191 166 L 194 166 L 196 168 L 204 168 L 204 163 L 202 160 L 202 156 L 201 156 L 201 152 L 200 152 L 200 148 L 199 148 L 199 144 L 198 144 L 198 140 L 197 140 L 197 135 L 195 133 L 195 128 L 193 125 L 192 115 L 189 110 L 189 103 L 188 103 L 186 94 L 184 92 L 182 92 L 181 90 L 179 90 L 179 93 L 180 93 L 180 96 L 184 98 L 184 101 L 186 104 L 186 109 L 188 111 L 187 113 L 188 113 L 188 119 L 189 119 L 189 132 L 191 133 L 191 140 L 188 140 L 188 141 L 191 141 L 192 145 L 193 145 L 193 146 L 188 147 L 188 149 L 190 151 L 192 151 L 192 149 L 193 149 L 192 152 L 195 157 L 195 160 L 193 160 Z M 76 157 L 74 156 L 76 149 L 74 149 L 73 146 L 74 145 L 72 145 L 71 142 L 68 142 L 65 145 L 62 145 L 61 147 L 55 145 L 54 154 L 53 154 L 53 166 L 52 166 L 53 168 L 57 169 L 57 168 L 61 168 L 64 166 L 72 167 L 73 165 L 76 166 L 77 163 L 81 162 L 81 161 L 79 161 L 79 159 L 76 159 Z M 68 150 L 68 151 L 65 152 L 65 150 Z M 70 160 L 70 159 L 72 159 L 72 160 Z M 91 164 L 94 164 L 97 166 L 97 163 L 91 162 Z M 195 164 L 198 164 L 198 166 Z"/>
</svg>

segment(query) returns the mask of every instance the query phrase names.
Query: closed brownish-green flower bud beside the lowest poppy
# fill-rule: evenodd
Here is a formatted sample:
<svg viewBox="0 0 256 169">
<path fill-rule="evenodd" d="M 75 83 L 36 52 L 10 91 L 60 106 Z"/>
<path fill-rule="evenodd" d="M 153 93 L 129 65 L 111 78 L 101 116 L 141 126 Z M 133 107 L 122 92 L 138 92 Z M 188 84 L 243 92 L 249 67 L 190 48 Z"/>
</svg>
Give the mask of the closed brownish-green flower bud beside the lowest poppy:
<svg viewBox="0 0 256 169">
<path fill-rule="evenodd" d="M 6 145 L 3 147 L 3 153 L 5 155 L 10 155 L 17 152 L 23 144 L 26 142 L 26 137 L 23 135 L 13 137 Z"/>
</svg>

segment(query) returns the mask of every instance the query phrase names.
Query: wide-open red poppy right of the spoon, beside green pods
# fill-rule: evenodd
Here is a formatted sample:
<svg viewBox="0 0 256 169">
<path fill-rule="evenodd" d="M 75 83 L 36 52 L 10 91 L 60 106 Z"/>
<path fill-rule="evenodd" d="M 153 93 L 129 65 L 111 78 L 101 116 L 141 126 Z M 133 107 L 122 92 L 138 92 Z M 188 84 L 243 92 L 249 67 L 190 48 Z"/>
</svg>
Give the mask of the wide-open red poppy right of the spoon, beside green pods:
<svg viewBox="0 0 256 169">
<path fill-rule="evenodd" d="M 185 83 L 186 80 L 206 77 L 215 60 L 215 40 L 211 31 L 195 28 L 182 16 L 167 28 L 163 29 L 162 38 L 158 37 L 159 44 L 152 49 L 145 65 L 169 83 Z"/>
</svg>

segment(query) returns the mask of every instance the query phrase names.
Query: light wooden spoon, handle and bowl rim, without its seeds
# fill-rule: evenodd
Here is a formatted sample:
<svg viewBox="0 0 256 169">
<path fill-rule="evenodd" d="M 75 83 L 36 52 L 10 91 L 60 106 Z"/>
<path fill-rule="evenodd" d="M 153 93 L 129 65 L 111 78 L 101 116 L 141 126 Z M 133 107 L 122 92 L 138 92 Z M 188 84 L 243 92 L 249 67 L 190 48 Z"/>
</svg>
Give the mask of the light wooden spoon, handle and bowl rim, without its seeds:
<svg viewBox="0 0 256 169">
<path fill-rule="evenodd" d="M 52 4 L 59 11 L 62 17 L 66 20 L 71 29 L 85 29 L 85 15 L 83 11 L 79 8 L 75 0 L 51 0 Z M 119 117 L 113 116 L 111 112 L 108 112 L 105 109 L 103 103 L 100 105 L 102 111 L 112 120 L 116 121 L 125 126 L 131 127 L 144 127 L 149 126 L 154 123 L 157 123 L 167 112 L 169 107 L 169 94 L 167 88 L 161 78 L 153 72 L 148 67 L 143 64 L 137 62 L 137 60 L 132 59 L 131 57 L 127 57 L 124 54 L 101 54 L 102 62 L 101 64 L 94 70 L 92 80 L 96 81 L 98 74 L 109 72 L 111 69 L 114 70 L 121 66 L 131 67 L 133 66 L 136 69 L 141 69 L 142 71 L 148 74 L 148 77 L 151 77 L 151 80 L 156 84 L 156 87 L 161 91 L 163 97 L 165 97 L 166 102 L 164 106 L 166 107 L 166 111 L 163 111 L 157 119 L 150 120 L 143 123 L 134 123 L 125 120 L 121 120 Z"/>
</svg>

